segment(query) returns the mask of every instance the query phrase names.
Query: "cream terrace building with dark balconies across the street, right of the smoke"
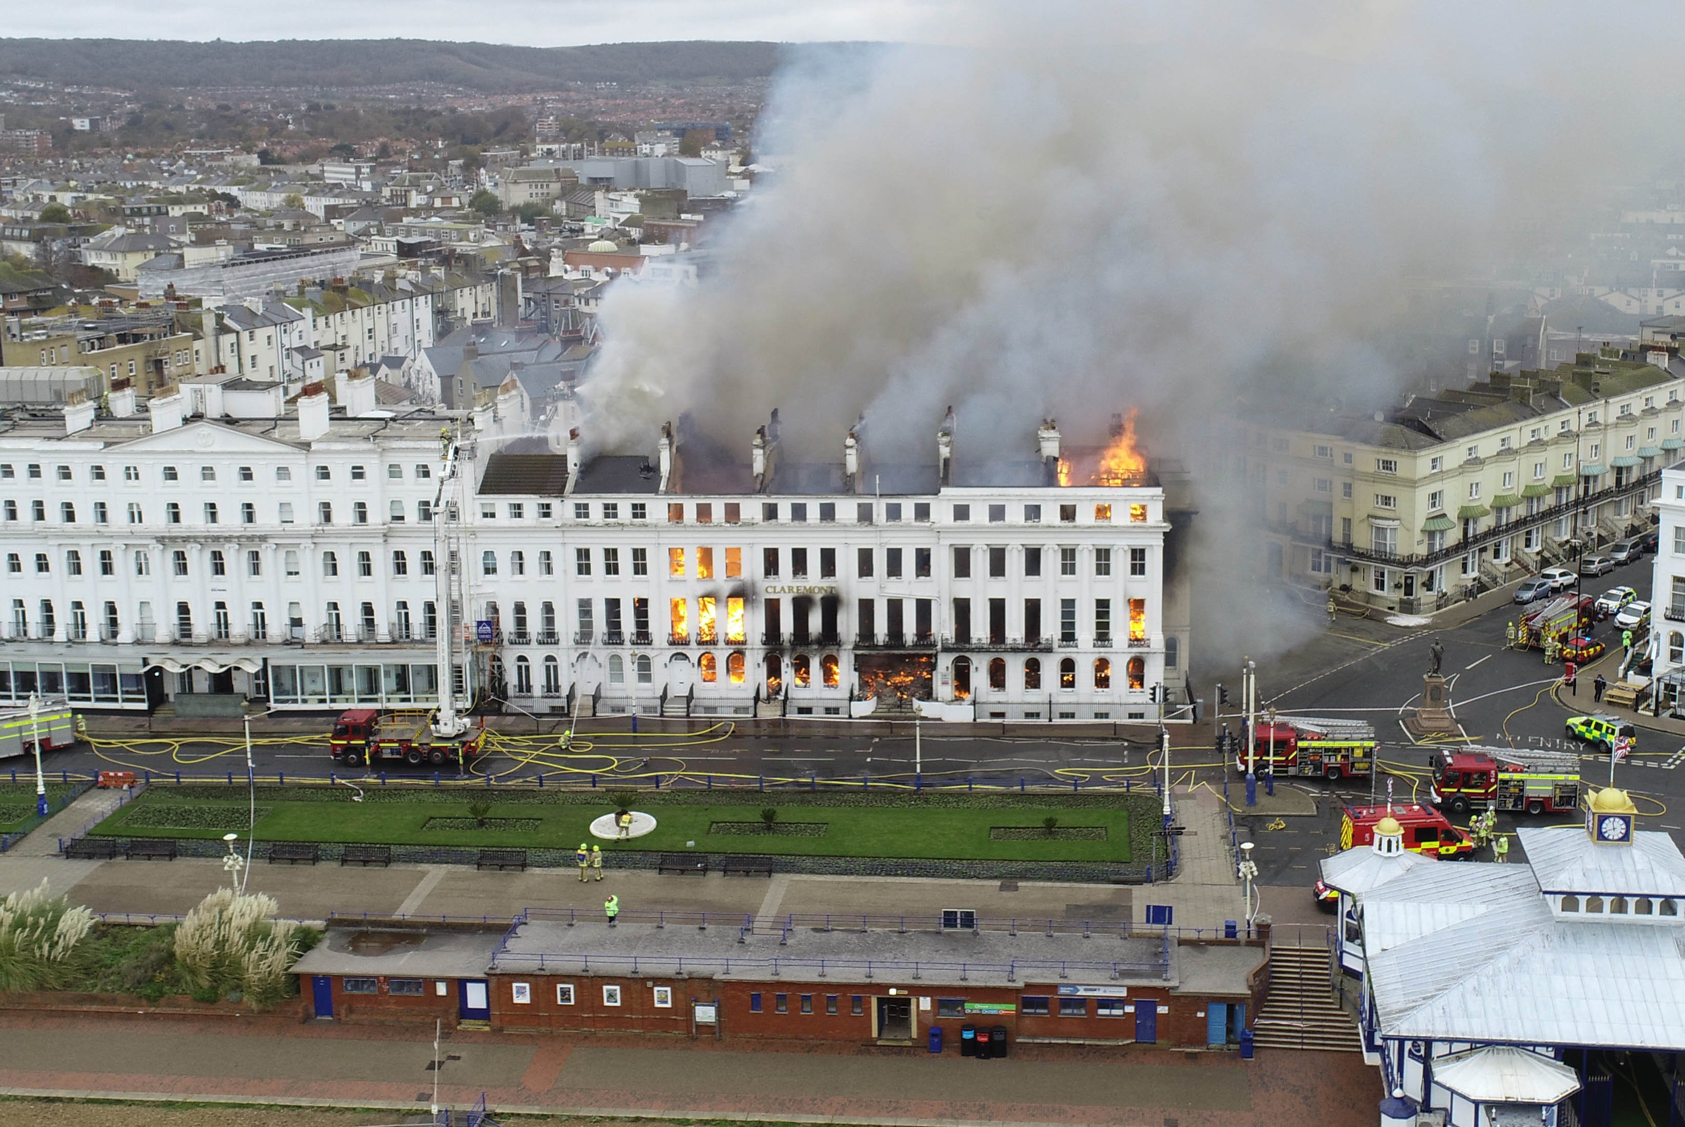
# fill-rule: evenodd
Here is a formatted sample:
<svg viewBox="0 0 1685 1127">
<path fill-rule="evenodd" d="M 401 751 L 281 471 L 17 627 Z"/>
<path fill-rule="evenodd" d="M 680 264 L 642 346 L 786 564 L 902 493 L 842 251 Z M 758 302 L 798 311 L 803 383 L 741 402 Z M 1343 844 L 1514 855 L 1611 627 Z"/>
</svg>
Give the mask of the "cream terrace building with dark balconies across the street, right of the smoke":
<svg viewBox="0 0 1685 1127">
<path fill-rule="evenodd" d="M 1228 468 L 1267 574 L 1429 612 L 1648 529 L 1685 450 L 1680 371 L 1661 347 L 1604 349 L 1392 411 L 1249 423 Z"/>
</svg>

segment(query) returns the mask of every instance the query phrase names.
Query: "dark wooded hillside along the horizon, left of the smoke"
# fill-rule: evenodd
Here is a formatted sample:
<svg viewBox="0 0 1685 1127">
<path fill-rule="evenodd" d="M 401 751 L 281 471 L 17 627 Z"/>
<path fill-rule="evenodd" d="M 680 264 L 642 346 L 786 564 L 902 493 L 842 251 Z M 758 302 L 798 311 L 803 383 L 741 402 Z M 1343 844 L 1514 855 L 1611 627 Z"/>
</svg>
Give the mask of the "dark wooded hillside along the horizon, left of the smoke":
<svg viewBox="0 0 1685 1127">
<path fill-rule="evenodd" d="M 125 89 L 335 89 L 441 83 L 482 93 L 566 83 L 741 83 L 767 77 L 785 51 L 770 42 L 650 42 L 512 47 L 425 39 L 180 42 L 0 39 L 0 79 Z"/>
</svg>

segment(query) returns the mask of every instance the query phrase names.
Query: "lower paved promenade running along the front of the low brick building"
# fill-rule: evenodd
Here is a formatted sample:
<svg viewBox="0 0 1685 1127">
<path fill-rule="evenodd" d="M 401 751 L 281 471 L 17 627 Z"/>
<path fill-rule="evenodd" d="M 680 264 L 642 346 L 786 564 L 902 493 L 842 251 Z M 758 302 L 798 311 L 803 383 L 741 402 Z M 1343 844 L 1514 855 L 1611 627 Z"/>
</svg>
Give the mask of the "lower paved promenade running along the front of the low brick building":
<svg viewBox="0 0 1685 1127">
<path fill-rule="evenodd" d="M 426 1110 L 431 1033 L 265 1018 L 157 1021 L 0 1012 L 0 1093 Z M 652 1046 L 615 1036 L 457 1031 L 441 1102 L 527 1114 L 837 1124 L 1367 1127 L 1380 1085 L 1355 1053 L 1235 1055 L 1014 1046 L 1004 1061 L 920 1051 Z M 374 1122 L 374 1120 L 371 1120 Z M 391 1122 L 391 1119 L 384 1120 Z"/>
</svg>

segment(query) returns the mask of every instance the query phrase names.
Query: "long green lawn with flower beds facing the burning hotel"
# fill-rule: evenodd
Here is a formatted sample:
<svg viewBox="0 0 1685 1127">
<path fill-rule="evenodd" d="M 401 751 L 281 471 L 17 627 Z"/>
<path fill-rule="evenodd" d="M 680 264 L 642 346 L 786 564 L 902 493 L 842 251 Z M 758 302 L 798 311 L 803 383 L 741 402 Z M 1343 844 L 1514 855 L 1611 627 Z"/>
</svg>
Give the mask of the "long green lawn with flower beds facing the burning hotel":
<svg viewBox="0 0 1685 1127">
<path fill-rule="evenodd" d="M 216 792 L 212 792 L 216 793 Z M 312 799 L 308 792 L 278 797 L 265 790 L 258 800 L 258 841 L 362 842 L 393 846 L 506 846 L 531 849 L 573 849 L 581 841 L 596 844 L 588 825 L 610 814 L 607 802 L 563 800 L 536 802 L 514 795 L 497 795 L 490 819 L 521 819 L 531 829 L 428 829 L 430 819 L 468 817 L 475 792 L 448 795 L 418 793 L 413 800 L 345 802 Z M 649 799 L 644 802 L 642 799 Z M 655 832 L 632 842 L 608 844 L 605 849 L 708 852 L 775 852 L 789 856 L 841 857 L 918 857 L 982 861 L 1100 861 L 1127 863 L 1132 856 L 1129 810 L 1122 797 L 1117 805 L 1070 805 L 1056 799 L 1036 804 L 1026 797 L 1021 805 L 949 805 L 920 804 L 917 799 L 875 805 L 814 800 L 789 800 L 789 795 L 755 795 L 750 804 L 708 804 L 698 800 L 662 802 L 659 795 L 640 795 L 635 809 L 657 819 Z M 693 799 L 686 795 L 686 799 Z M 490 799 L 489 799 L 490 800 Z M 819 822 L 824 832 L 795 834 L 713 834 L 714 822 L 758 824 L 763 807 L 778 810 L 780 822 Z M 1060 829 L 1104 829 L 1104 839 L 1028 839 L 996 841 L 992 827 L 1041 829 L 1043 819 L 1058 817 Z M 226 799 L 182 795 L 153 788 L 106 819 L 94 834 L 111 837 L 221 837 L 229 829 L 243 831 L 246 799 L 239 792 Z M 233 825 L 238 822 L 239 825 Z M 691 846 L 689 842 L 696 842 Z"/>
</svg>

